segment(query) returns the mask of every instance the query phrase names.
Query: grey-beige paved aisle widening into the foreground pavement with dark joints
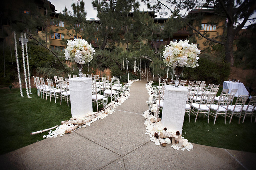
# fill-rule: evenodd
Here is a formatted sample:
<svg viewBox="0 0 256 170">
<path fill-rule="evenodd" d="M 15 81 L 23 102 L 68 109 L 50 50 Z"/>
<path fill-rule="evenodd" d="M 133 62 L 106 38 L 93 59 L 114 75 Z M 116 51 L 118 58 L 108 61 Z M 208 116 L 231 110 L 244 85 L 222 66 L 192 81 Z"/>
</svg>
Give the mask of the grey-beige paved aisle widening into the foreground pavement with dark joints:
<svg viewBox="0 0 256 170">
<path fill-rule="evenodd" d="M 0 156 L 0 169 L 255 169 L 256 154 L 193 144 L 156 146 L 145 134 L 146 81 L 132 84 L 116 112 L 63 137 Z"/>
</svg>

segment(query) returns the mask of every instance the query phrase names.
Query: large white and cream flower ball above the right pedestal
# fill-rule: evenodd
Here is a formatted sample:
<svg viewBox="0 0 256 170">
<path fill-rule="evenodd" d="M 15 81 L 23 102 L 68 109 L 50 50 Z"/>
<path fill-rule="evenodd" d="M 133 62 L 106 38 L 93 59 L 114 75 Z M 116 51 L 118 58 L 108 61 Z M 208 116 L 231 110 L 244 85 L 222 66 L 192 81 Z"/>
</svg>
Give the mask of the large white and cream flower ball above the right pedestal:
<svg viewBox="0 0 256 170">
<path fill-rule="evenodd" d="M 199 59 L 200 50 L 196 44 L 188 44 L 188 42 L 188 40 L 180 40 L 180 42 L 176 40 L 165 46 L 164 63 L 172 68 L 176 66 L 192 68 L 199 66 L 197 60 Z"/>
</svg>

